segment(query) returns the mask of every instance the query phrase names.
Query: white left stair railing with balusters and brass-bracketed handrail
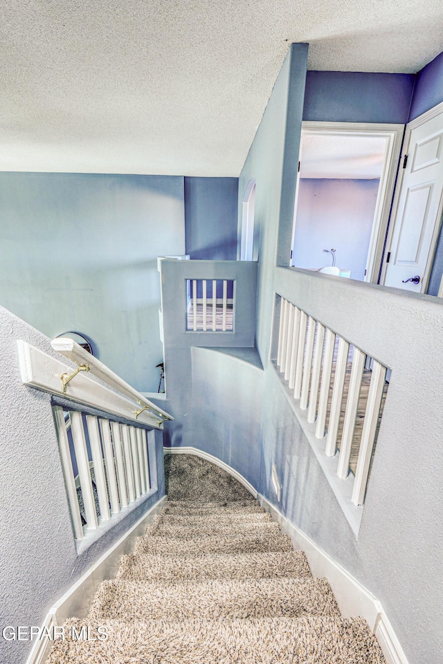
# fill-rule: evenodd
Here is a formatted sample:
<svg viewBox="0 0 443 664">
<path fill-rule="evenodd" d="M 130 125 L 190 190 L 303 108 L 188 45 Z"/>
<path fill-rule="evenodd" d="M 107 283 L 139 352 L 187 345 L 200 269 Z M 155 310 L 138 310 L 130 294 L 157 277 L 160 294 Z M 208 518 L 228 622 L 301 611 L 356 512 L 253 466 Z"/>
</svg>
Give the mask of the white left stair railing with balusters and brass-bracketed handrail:
<svg viewBox="0 0 443 664">
<path fill-rule="evenodd" d="M 75 540 L 82 540 L 156 491 L 154 428 L 162 429 L 172 416 L 70 339 L 54 340 L 53 347 L 77 363 L 75 370 L 26 342 L 17 345 L 24 384 L 56 398 L 53 414 L 66 495 Z M 89 412 L 75 403 L 60 405 L 66 400 L 87 405 Z M 91 414 L 91 408 L 98 413 Z"/>
</svg>

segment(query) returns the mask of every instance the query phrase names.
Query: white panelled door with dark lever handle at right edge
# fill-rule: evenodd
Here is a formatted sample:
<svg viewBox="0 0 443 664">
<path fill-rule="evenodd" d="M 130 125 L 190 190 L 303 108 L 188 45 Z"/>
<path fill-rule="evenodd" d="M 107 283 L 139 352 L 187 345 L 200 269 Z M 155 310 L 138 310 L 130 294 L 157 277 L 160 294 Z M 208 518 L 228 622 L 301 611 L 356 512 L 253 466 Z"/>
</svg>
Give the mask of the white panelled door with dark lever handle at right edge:
<svg viewBox="0 0 443 664">
<path fill-rule="evenodd" d="M 408 158 L 397 199 L 384 285 L 424 293 L 442 216 L 443 113 L 415 124 L 408 127 Z"/>
</svg>

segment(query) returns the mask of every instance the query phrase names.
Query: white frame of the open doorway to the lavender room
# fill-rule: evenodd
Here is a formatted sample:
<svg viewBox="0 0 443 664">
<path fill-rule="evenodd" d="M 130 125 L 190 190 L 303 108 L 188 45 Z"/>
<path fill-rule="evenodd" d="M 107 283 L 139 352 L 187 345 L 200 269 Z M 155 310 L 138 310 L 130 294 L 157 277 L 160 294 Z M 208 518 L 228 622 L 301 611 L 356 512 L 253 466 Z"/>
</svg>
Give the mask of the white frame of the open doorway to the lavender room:
<svg viewBox="0 0 443 664">
<path fill-rule="evenodd" d="M 399 166 L 404 124 L 379 122 L 302 122 L 302 136 L 360 136 L 386 138 L 386 152 L 380 176 L 379 191 L 375 204 L 374 221 L 370 237 L 368 259 L 366 260 L 365 282 L 377 284 L 386 230 L 390 217 L 395 179 Z M 300 149 L 302 141 L 300 141 Z M 302 154 L 301 154 L 302 158 Z M 297 200 L 297 196 L 296 196 Z M 295 237 L 297 209 L 294 209 L 292 238 Z M 293 248 L 293 240 L 291 250 Z"/>
</svg>

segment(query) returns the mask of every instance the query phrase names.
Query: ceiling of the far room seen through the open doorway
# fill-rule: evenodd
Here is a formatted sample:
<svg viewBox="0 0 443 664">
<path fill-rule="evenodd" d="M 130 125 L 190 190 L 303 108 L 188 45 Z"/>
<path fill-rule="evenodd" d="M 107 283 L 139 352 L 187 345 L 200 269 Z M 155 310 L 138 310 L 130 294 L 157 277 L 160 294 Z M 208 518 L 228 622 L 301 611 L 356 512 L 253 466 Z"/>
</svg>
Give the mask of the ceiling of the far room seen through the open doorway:
<svg viewBox="0 0 443 664">
<path fill-rule="evenodd" d="M 302 136 L 300 177 L 379 178 L 386 142 L 386 138 L 372 136 Z"/>
</svg>

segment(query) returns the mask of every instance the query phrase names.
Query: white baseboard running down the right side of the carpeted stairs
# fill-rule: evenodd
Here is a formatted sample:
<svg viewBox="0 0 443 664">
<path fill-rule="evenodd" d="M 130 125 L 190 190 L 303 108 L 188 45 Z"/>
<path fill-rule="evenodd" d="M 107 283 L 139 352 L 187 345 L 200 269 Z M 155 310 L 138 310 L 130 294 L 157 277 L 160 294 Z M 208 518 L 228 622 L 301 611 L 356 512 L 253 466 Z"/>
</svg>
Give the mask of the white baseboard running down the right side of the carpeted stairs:
<svg viewBox="0 0 443 664">
<path fill-rule="evenodd" d="M 258 500 L 266 512 L 271 514 L 273 520 L 280 524 L 282 532 L 290 535 L 294 548 L 306 553 L 312 574 L 315 577 L 327 578 L 342 616 L 365 618 L 379 641 L 386 662 L 388 664 L 408 664 L 406 655 L 379 600 L 317 546 L 310 537 L 300 531 L 300 528 L 294 526 L 287 517 L 275 509 L 264 496 L 259 494 Z"/>
</svg>

